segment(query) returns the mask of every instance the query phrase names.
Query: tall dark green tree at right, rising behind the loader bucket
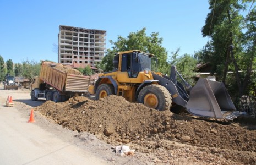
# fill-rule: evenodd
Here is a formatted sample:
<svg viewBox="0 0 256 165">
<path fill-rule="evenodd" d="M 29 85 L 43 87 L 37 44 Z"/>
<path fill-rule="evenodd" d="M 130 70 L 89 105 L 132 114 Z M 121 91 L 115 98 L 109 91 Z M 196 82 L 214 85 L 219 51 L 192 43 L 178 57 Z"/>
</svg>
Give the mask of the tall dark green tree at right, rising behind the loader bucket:
<svg viewBox="0 0 256 165">
<path fill-rule="evenodd" d="M 252 82 L 252 70 L 256 69 L 253 65 L 256 56 L 255 7 L 246 17 L 241 14 L 241 11 L 253 2 L 210 0 L 210 13 L 201 29 L 203 36 L 208 36 L 212 40 L 212 72 L 222 76 L 222 81 L 226 84 L 227 71 L 232 71 L 234 74 L 229 76 L 236 79 L 234 87 L 238 89 L 238 96 L 249 92 L 247 87 Z"/>
</svg>

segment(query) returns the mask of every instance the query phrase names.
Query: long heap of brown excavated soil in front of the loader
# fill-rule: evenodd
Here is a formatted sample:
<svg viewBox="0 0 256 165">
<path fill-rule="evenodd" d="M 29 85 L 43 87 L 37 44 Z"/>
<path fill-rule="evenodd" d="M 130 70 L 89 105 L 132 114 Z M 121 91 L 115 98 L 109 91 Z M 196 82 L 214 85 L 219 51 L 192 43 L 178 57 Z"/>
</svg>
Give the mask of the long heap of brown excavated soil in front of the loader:
<svg viewBox="0 0 256 165">
<path fill-rule="evenodd" d="M 256 164 L 255 118 L 242 124 L 206 120 L 156 111 L 114 95 L 98 101 L 82 96 L 46 101 L 35 111 L 112 146 L 127 145 L 141 160 L 156 164 Z"/>
</svg>

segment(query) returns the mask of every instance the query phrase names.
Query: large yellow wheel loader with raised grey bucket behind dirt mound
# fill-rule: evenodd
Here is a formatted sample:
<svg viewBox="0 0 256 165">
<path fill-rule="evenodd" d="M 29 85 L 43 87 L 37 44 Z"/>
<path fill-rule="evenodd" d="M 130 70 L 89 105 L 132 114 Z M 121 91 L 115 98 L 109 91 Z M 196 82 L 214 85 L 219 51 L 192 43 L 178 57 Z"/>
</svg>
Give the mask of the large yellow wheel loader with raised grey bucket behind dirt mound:
<svg viewBox="0 0 256 165">
<path fill-rule="evenodd" d="M 139 50 L 116 53 L 111 72 L 99 74 L 89 93 L 96 100 L 117 95 L 159 111 L 186 109 L 194 116 L 233 119 L 239 115 L 223 83 L 200 78 L 192 87 L 171 67 L 170 76 L 151 71 L 153 54 Z M 177 76 L 179 80 L 177 81 Z M 139 110 L 138 110 L 139 111 Z M 229 113 L 226 113 L 229 112 Z"/>
</svg>

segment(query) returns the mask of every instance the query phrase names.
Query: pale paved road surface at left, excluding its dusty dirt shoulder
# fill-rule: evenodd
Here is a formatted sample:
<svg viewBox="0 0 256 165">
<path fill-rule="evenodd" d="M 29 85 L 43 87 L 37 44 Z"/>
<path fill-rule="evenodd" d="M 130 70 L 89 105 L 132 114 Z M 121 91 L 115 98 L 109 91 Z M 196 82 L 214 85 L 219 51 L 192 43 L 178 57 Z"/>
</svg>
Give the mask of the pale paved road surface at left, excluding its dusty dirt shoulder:
<svg viewBox="0 0 256 165">
<path fill-rule="evenodd" d="M 44 102 L 30 101 L 29 91 L 3 90 L 0 85 L 0 164 L 111 164 L 28 123 L 29 114 L 18 111 L 21 107 L 5 106 L 8 96 L 27 111 Z"/>
</svg>

